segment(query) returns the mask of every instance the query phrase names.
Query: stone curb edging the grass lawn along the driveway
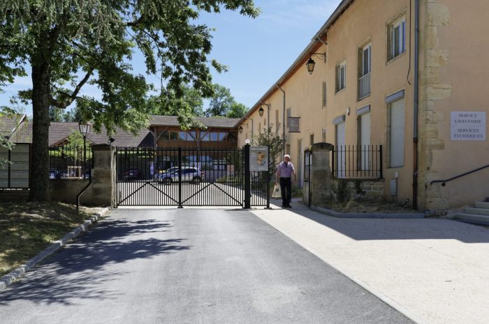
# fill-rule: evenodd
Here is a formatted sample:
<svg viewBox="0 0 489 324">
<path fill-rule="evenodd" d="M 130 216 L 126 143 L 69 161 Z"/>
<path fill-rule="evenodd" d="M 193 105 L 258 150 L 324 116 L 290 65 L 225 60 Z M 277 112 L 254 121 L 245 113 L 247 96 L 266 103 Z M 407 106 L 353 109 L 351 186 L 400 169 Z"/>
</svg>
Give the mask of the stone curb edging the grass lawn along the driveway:
<svg viewBox="0 0 489 324">
<path fill-rule="evenodd" d="M 61 238 L 61 240 L 57 240 L 56 242 L 52 243 L 52 245 L 44 249 L 43 252 L 34 256 L 34 258 L 30 259 L 23 265 L 20 265 L 19 268 L 8 273 L 8 275 L 4 275 L 3 277 L 1 277 L 0 291 L 5 290 L 10 284 L 12 284 L 13 281 L 24 277 L 27 271 L 29 271 L 31 268 L 34 268 L 34 265 L 43 261 L 46 257 L 56 252 L 57 249 L 59 249 L 63 245 L 66 245 L 66 242 L 68 242 L 68 240 L 76 238 L 77 236 L 80 235 L 80 233 L 87 231 L 89 226 L 92 225 L 94 222 L 96 222 L 98 219 L 100 219 L 103 215 L 105 215 L 105 213 L 107 213 L 108 210 L 109 208 L 103 208 L 103 210 L 101 210 L 99 213 L 94 214 L 85 222 L 76 226 L 75 229 L 73 229 L 73 231 L 66 234 L 63 238 Z"/>
</svg>

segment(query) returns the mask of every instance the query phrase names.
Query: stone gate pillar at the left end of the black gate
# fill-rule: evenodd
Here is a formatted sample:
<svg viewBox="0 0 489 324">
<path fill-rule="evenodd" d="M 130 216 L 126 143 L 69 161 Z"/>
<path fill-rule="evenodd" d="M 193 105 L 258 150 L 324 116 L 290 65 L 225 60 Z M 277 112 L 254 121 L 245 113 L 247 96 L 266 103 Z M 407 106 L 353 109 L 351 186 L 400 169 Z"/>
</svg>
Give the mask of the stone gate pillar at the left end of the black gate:
<svg viewBox="0 0 489 324">
<path fill-rule="evenodd" d="M 93 202 L 97 206 L 115 207 L 115 148 L 107 144 L 98 144 L 92 146 L 92 152 L 94 154 Z"/>
</svg>

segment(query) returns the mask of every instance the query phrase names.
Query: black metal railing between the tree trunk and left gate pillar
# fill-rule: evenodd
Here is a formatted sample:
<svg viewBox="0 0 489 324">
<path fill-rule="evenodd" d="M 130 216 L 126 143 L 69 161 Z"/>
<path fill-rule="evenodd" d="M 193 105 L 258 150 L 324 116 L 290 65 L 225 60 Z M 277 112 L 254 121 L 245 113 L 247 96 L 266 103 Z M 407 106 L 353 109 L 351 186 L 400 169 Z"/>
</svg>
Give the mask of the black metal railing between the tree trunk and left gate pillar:
<svg viewBox="0 0 489 324">
<path fill-rule="evenodd" d="M 51 146 L 49 148 L 50 179 L 89 178 L 93 165 L 92 148 L 83 145 Z"/>
</svg>

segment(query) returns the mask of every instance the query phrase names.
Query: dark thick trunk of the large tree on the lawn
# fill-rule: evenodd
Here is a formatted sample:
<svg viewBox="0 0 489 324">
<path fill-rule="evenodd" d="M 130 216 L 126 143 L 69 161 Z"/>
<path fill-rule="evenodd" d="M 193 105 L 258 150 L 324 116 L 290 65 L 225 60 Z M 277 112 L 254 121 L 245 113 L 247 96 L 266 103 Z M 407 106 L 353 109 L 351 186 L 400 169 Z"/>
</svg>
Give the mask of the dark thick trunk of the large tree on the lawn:
<svg viewBox="0 0 489 324">
<path fill-rule="evenodd" d="M 48 59 L 32 60 L 32 156 L 29 201 L 49 198 L 49 107 L 50 65 Z"/>
</svg>

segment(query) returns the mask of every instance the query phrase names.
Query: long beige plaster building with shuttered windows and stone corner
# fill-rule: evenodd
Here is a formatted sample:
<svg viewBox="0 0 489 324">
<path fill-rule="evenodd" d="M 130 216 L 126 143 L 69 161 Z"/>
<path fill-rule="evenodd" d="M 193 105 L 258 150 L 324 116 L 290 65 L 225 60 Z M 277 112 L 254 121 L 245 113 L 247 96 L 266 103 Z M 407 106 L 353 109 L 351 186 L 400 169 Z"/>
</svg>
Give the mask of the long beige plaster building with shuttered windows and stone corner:
<svg viewBox="0 0 489 324">
<path fill-rule="evenodd" d="M 238 145 L 252 137 L 251 120 L 254 137 L 271 125 L 286 136 L 299 185 L 312 143 L 382 146 L 381 162 L 373 155 L 362 162 L 362 153 L 351 159 L 360 170 L 380 163 L 385 199 L 409 199 L 418 210 L 486 199 L 489 168 L 446 185 L 432 181 L 489 164 L 488 12 L 486 0 L 342 1 L 242 118 Z M 310 74 L 309 59 L 315 61 Z M 300 117 L 300 132 L 289 132 L 288 117 Z M 335 175 L 356 178 L 344 172 L 340 157 L 332 159 Z"/>
</svg>

